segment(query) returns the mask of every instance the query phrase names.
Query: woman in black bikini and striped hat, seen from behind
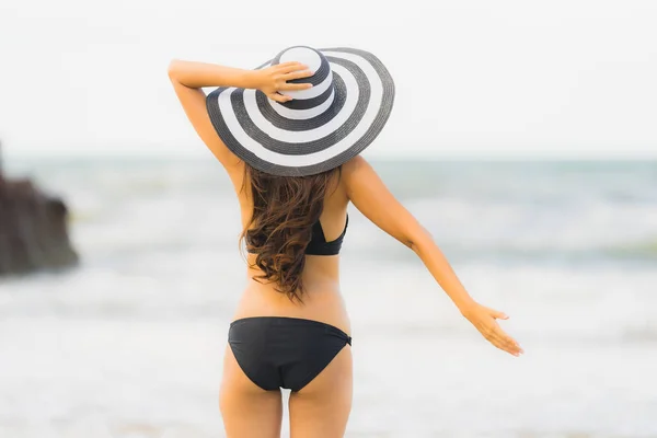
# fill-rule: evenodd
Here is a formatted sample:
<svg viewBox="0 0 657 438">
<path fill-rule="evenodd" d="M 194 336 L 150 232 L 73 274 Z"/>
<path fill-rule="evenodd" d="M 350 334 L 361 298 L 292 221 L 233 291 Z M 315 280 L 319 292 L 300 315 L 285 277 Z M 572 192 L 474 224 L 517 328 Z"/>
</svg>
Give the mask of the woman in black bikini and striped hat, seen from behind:
<svg viewBox="0 0 657 438">
<path fill-rule="evenodd" d="M 358 153 L 382 129 L 394 84 L 373 55 L 290 47 L 255 70 L 174 60 L 192 125 L 223 164 L 242 214 L 247 285 L 230 325 L 220 408 L 228 437 L 342 437 L 351 338 L 338 285 L 347 205 L 413 250 L 460 312 L 515 356 L 502 312 L 475 302 L 431 235 Z M 208 96 L 204 87 L 218 87 Z"/>
</svg>

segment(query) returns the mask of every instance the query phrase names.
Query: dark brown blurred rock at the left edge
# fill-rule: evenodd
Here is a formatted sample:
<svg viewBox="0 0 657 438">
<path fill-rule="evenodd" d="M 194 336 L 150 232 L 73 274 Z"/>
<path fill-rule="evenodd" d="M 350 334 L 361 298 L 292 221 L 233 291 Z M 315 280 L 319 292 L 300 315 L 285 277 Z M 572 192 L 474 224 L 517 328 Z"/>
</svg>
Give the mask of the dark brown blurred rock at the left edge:
<svg viewBox="0 0 657 438">
<path fill-rule="evenodd" d="M 30 180 L 7 180 L 0 161 L 0 276 L 73 266 L 64 201 Z"/>
</svg>

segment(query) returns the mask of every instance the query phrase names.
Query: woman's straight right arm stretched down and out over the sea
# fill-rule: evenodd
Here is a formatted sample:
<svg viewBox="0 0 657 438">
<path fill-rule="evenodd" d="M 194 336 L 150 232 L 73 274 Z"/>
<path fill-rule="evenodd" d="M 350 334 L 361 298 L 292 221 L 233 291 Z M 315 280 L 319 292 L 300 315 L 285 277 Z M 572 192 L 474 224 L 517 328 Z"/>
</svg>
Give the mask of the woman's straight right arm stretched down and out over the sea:
<svg viewBox="0 0 657 438">
<path fill-rule="evenodd" d="M 514 356 L 522 353 L 518 343 L 497 324 L 496 319 L 506 320 L 508 316 L 477 303 L 468 293 L 431 234 L 394 198 L 365 158 L 356 157 L 344 164 L 343 181 L 356 208 L 419 256 L 463 316 L 486 339 Z"/>
</svg>

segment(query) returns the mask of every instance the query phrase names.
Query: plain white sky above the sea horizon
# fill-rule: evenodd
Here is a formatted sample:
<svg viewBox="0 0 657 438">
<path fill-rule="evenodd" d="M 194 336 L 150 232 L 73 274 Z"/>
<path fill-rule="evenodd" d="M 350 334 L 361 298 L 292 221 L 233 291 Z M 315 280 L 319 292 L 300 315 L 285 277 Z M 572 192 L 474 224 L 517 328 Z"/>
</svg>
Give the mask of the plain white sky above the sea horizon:
<svg viewBox="0 0 657 438">
<path fill-rule="evenodd" d="M 205 153 L 172 58 L 350 46 L 391 71 L 390 157 L 657 158 L 653 0 L 0 0 L 10 155 Z"/>
</svg>

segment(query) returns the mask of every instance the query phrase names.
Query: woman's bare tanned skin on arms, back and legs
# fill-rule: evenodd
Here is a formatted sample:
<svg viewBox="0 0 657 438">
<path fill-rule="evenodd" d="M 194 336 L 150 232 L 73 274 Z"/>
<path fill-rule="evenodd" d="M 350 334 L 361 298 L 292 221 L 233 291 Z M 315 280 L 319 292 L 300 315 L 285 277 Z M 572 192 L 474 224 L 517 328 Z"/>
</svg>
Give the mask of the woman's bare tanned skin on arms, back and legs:
<svg viewBox="0 0 657 438">
<path fill-rule="evenodd" d="M 172 61 L 169 67 L 169 77 L 187 118 L 230 176 L 240 203 L 243 227 L 251 217 L 253 206 L 247 196 L 250 192 L 241 191 L 244 163 L 217 136 L 206 110 L 206 95 L 201 88 L 256 89 L 277 102 L 285 102 L 291 99 L 285 95 L 286 91 L 312 87 L 286 81 L 310 74 L 308 67 L 298 62 L 286 62 L 263 70 L 242 70 L 181 60 Z M 334 240 L 342 233 L 349 203 L 377 227 L 415 252 L 461 314 L 487 341 L 514 356 L 523 353 L 496 321 L 508 316 L 480 304 L 468 293 L 433 237 L 394 198 L 362 157 L 356 157 L 343 165 L 337 189 L 324 199 L 320 221 L 327 240 Z M 253 263 L 254 256 L 249 257 L 249 263 Z M 350 335 L 349 318 L 339 290 L 338 258 L 337 255 L 307 255 L 303 272 L 307 295 L 302 306 L 275 291 L 272 285 L 253 280 L 258 270 L 247 267 L 249 284 L 234 319 L 262 315 L 303 318 L 334 325 Z M 351 410 L 351 349 L 347 345 L 313 381 L 290 395 L 291 437 L 343 437 Z M 279 437 L 281 403 L 278 391 L 264 391 L 246 378 L 227 347 L 220 410 L 228 437 Z"/>
</svg>

